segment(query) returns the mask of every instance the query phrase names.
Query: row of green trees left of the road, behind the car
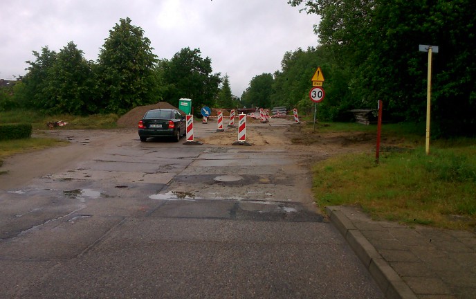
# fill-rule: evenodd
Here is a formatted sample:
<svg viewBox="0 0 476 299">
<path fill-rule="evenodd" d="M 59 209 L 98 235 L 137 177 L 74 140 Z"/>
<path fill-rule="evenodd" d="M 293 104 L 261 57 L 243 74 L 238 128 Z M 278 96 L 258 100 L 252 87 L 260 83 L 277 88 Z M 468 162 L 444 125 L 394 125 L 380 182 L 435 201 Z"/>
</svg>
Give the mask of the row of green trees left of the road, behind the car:
<svg viewBox="0 0 476 299">
<path fill-rule="evenodd" d="M 192 98 L 195 111 L 203 105 L 235 107 L 228 75 L 213 73 L 199 48 L 158 60 L 150 44 L 144 30 L 126 18 L 109 30 L 97 62 L 87 61 L 74 42 L 58 53 L 44 46 L 33 51 L 35 60 L 26 62 L 27 73 L 12 96 L 0 98 L 0 111 L 25 107 L 47 114 L 120 115 L 160 101 L 178 107 L 179 98 Z"/>
</svg>

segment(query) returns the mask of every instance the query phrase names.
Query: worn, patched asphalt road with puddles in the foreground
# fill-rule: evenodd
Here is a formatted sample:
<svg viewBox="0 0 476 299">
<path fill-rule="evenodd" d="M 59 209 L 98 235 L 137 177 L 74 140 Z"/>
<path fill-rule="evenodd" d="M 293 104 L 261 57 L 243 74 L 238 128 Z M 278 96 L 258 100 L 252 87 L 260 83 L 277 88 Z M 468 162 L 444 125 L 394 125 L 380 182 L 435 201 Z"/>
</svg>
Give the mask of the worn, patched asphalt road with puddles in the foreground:
<svg viewBox="0 0 476 299">
<path fill-rule="evenodd" d="M 135 130 L 91 152 L 75 134 L 90 154 L 0 185 L 0 298 L 383 298 L 313 206 L 299 153 Z"/>
</svg>

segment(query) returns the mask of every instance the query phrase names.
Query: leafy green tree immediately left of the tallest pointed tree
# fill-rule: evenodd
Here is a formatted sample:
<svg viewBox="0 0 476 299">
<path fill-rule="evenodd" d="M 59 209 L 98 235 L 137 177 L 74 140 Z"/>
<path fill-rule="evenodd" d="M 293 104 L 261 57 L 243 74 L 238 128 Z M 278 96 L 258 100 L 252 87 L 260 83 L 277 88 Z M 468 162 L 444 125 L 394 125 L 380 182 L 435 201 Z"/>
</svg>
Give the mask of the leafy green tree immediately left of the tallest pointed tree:
<svg viewBox="0 0 476 299">
<path fill-rule="evenodd" d="M 95 113 L 98 107 L 94 100 L 93 66 L 73 42 L 57 53 L 55 63 L 48 70 L 45 89 L 49 95 L 49 111 L 76 115 Z"/>
</svg>

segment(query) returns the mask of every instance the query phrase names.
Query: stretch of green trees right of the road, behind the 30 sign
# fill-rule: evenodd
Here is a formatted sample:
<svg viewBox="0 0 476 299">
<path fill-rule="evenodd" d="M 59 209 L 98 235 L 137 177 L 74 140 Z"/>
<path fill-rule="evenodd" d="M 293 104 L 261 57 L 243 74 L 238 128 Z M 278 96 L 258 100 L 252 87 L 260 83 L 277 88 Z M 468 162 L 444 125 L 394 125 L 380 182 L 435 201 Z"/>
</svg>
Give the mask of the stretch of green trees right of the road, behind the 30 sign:
<svg viewBox="0 0 476 299">
<path fill-rule="evenodd" d="M 428 54 L 432 60 L 432 134 L 476 134 L 476 1 L 290 0 L 320 16 L 319 46 L 286 53 L 282 69 L 255 76 L 242 102 L 309 111 L 311 78 L 324 73 L 320 119 L 345 120 L 349 109 L 376 108 L 385 116 L 421 122 L 426 115 Z"/>
</svg>

